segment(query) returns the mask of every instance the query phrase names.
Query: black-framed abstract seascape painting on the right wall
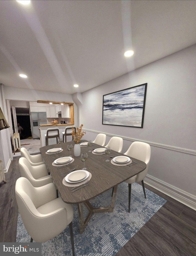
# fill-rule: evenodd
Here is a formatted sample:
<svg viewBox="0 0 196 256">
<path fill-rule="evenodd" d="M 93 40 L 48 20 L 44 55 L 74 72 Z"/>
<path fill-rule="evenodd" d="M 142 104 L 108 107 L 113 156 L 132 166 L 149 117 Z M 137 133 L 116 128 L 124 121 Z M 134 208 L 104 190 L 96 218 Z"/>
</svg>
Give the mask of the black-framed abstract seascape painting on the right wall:
<svg viewBox="0 0 196 256">
<path fill-rule="evenodd" d="M 103 95 L 102 124 L 143 128 L 147 83 Z"/>
</svg>

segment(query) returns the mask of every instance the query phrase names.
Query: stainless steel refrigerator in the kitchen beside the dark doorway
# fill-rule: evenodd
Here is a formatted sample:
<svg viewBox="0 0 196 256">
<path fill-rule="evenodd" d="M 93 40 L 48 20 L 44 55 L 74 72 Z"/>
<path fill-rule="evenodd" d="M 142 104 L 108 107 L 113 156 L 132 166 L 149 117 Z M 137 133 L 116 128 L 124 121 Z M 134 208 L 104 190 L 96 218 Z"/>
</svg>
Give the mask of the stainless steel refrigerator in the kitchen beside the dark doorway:
<svg viewBox="0 0 196 256">
<path fill-rule="evenodd" d="M 40 124 L 47 124 L 46 112 L 31 112 L 31 123 L 32 123 L 32 137 L 33 139 L 40 138 Z"/>
</svg>

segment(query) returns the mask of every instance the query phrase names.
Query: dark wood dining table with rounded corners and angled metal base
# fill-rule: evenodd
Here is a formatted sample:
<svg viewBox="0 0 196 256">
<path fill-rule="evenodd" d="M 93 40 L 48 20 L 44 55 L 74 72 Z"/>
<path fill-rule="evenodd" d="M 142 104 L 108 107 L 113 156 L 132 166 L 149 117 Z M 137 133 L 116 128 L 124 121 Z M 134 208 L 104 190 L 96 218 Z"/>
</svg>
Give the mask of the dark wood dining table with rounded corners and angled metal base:
<svg viewBox="0 0 196 256">
<path fill-rule="evenodd" d="M 71 152 L 67 151 L 67 145 L 72 144 L 73 149 Z M 89 152 L 89 147 L 81 146 L 81 153 L 88 154 L 88 160 L 85 162 L 85 166 L 87 167 L 87 171 L 91 173 L 92 177 L 89 180 L 89 185 L 87 187 L 82 187 L 75 192 L 71 192 L 70 187 L 65 186 L 62 181 L 64 179 L 61 176 L 61 173 L 69 171 L 73 168 L 75 170 L 81 170 L 84 166 L 84 163 L 81 161 L 81 157 L 74 156 L 74 142 L 66 142 L 61 144 L 62 152 L 57 154 L 47 154 L 47 150 L 52 148 L 59 148 L 59 144 L 44 146 L 40 148 L 40 152 L 42 154 L 43 160 L 45 161 L 47 168 L 52 176 L 52 179 L 58 189 L 58 193 L 60 194 L 62 200 L 67 204 L 77 204 L 78 208 L 78 218 L 79 218 L 79 229 L 82 234 L 92 213 L 97 212 L 112 212 L 115 206 L 115 197 L 117 192 L 118 184 L 123 181 L 137 175 L 142 172 L 146 168 L 146 164 L 143 161 L 140 161 L 135 158 L 131 158 L 132 161 L 136 161 L 137 164 L 132 166 L 128 165 L 114 165 L 111 163 L 110 156 L 123 156 L 122 153 L 118 153 L 116 151 L 111 150 L 111 154 L 108 156 L 109 162 L 106 162 L 107 159 L 106 154 L 93 154 Z M 93 144 L 91 149 L 103 148 L 100 145 Z M 72 155 L 74 161 L 69 166 L 64 166 L 60 169 L 57 169 L 56 166 L 52 165 L 54 162 L 54 158 L 58 158 L 61 156 L 69 156 Z M 89 203 L 89 200 L 92 198 L 102 194 L 108 189 L 114 188 L 113 195 L 111 197 L 111 205 L 103 206 L 99 208 L 94 208 L 92 204 Z M 128 200 L 128 191 L 127 191 L 127 200 Z M 88 208 L 89 214 L 84 220 L 83 216 L 83 204 Z M 104 202 L 103 202 L 104 204 Z"/>
</svg>

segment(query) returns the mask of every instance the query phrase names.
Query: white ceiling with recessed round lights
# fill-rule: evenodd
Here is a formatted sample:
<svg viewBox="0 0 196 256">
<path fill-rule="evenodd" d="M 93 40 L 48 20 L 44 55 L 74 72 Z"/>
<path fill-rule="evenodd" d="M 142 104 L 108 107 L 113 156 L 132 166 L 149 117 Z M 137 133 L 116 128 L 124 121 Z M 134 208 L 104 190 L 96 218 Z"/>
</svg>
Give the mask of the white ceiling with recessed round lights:
<svg viewBox="0 0 196 256">
<path fill-rule="evenodd" d="M 84 92 L 196 43 L 195 0 L 1 0 L 0 10 L 0 83 L 11 87 Z"/>
</svg>

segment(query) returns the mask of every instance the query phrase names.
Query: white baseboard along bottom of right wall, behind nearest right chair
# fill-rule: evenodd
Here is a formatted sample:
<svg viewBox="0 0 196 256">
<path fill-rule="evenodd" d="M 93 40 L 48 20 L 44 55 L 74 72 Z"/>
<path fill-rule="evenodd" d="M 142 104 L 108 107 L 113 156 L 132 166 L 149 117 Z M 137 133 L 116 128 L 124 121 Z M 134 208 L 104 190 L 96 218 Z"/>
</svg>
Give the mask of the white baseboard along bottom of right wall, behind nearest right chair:
<svg viewBox="0 0 196 256">
<path fill-rule="evenodd" d="M 171 184 L 159 180 L 149 174 L 146 175 L 144 182 L 147 185 L 159 190 L 160 192 L 163 192 L 165 195 L 170 196 L 171 198 L 187 205 L 196 211 L 196 196 L 176 188 Z"/>
</svg>

